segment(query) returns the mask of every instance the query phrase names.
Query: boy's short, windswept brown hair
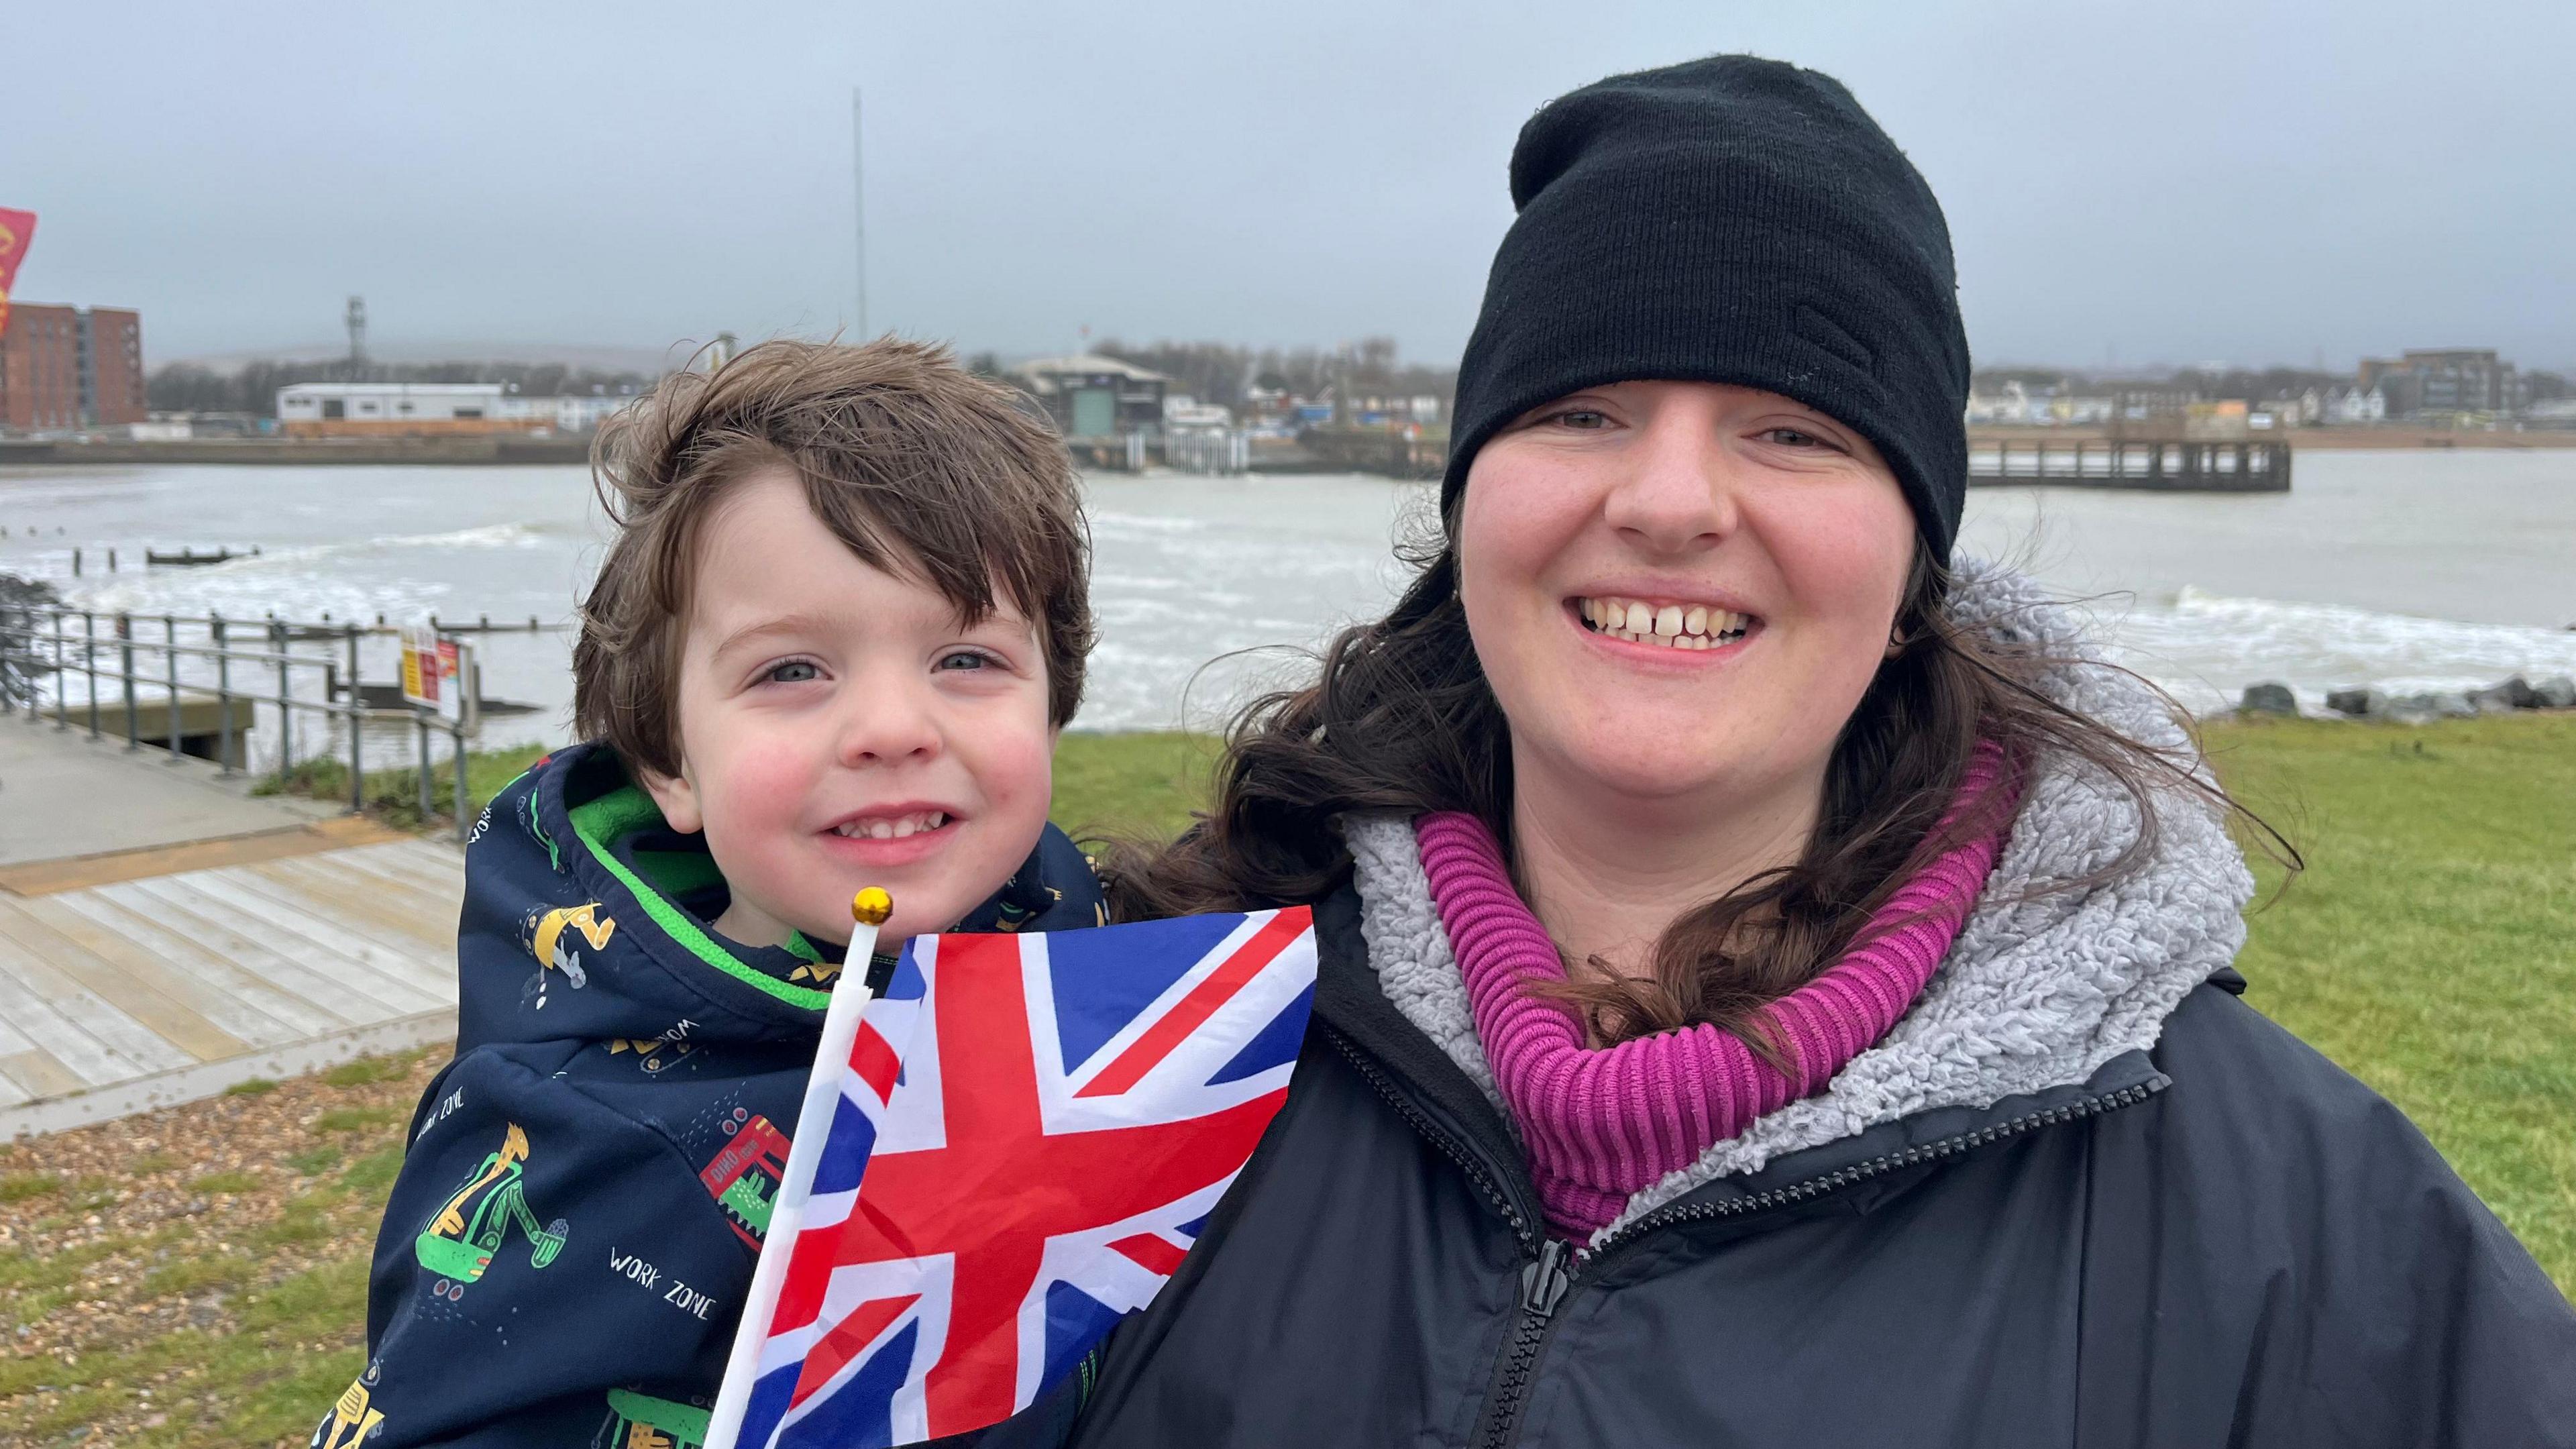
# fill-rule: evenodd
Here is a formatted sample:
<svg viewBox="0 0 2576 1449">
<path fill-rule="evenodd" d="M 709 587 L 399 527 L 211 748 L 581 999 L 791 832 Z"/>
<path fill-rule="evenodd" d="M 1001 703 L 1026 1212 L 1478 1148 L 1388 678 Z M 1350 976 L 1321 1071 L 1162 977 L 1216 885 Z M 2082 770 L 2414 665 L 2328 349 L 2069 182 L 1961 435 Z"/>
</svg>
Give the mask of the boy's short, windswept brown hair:
<svg viewBox="0 0 2576 1449">
<path fill-rule="evenodd" d="M 760 343 L 608 418 L 590 467 L 618 536 L 582 601 L 572 722 L 629 768 L 680 773 L 698 534 L 734 482 L 773 467 L 804 480 L 853 554 L 930 583 L 969 624 L 999 585 L 1038 629 L 1054 724 L 1082 701 L 1092 603 L 1074 464 L 1007 387 L 945 348 Z"/>
</svg>

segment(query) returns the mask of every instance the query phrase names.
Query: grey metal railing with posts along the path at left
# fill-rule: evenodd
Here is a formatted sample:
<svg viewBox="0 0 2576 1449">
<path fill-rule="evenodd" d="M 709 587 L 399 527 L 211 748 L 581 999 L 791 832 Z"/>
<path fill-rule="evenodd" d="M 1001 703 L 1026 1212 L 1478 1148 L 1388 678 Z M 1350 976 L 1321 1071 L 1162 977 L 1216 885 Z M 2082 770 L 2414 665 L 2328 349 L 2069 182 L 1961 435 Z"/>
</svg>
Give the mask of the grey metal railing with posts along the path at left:
<svg viewBox="0 0 2576 1449">
<path fill-rule="evenodd" d="M 216 701 L 216 730 L 219 730 L 216 773 L 227 773 L 229 776 L 229 773 L 237 773 L 234 763 L 232 763 L 232 753 L 234 753 L 234 748 L 232 748 L 232 740 L 234 740 L 234 732 L 232 732 L 232 701 L 234 699 L 245 699 L 245 701 L 252 701 L 252 704 L 276 704 L 278 706 L 278 784 L 283 786 L 291 779 L 294 763 L 296 763 L 294 761 L 294 712 L 304 709 L 304 712 L 322 714 L 322 717 L 340 717 L 340 719 L 348 719 L 348 810 L 358 812 L 358 810 L 366 807 L 366 743 L 361 737 L 361 724 L 366 724 L 368 719 L 404 719 L 404 717 L 410 717 L 412 727 L 415 727 L 415 737 L 420 743 L 420 768 L 417 768 L 417 779 L 420 779 L 420 815 L 422 815 L 422 820 L 428 820 L 433 815 L 433 794 L 435 792 L 430 786 L 430 781 L 433 781 L 433 773 L 430 773 L 430 735 L 433 732 L 443 732 L 443 735 L 448 735 L 451 758 L 453 758 L 453 768 L 456 768 L 456 838 L 459 841 L 466 838 L 466 833 L 471 828 L 471 820 L 474 820 L 474 810 L 471 810 L 474 802 L 471 802 L 471 794 L 466 792 L 466 735 L 474 732 L 471 730 L 471 724 L 474 724 L 471 722 L 471 712 L 466 712 L 469 714 L 466 719 L 448 719 L 448 717 L 433 714 L 428 709 L 368 709 L 363 704 L 361 694 L 358 694 L 358 639 L 361 637 L 376 637 L 379 629 L 368 629 L 363 624 L 350 621 L 350 624 L 325 627 L 330 632 L 322 634 L 322 629 L 286 624 L 286 621 L 276 621 L 276 619 L 250 619 L 250 621 L 242 621 L 242 619 L 224 619 L 219 614 L 209 614 L 209 616 L 201 616 L 201 619 L 178 616 L 178 614 L 144 614 L 144 616 L 137 616 L 137 614 L 118 611 L 118 614 L 111 614 L 111 619 L 116 621 L 116 632 L 108 639 L 100 639 L 98 637 L 98 616 L 100 616 L 100 611 L 95 611 L 95 608 L 62 608 L 62 606 L 10 606 L 10 608 L 0 608 L 0 665 L 15 663 L 21 668 L 21 673 L 26 673 L 28 678 L 33 678 L 36 673 L 52 673 L 57 678 L 57 686 L 54 686 L 54 730 L 70 730 L 72 727 L 72 722 L 70 722 L 70 688 L 64 688 L 64 683 L 72 676 L 85 676 L 88 686 L 90 686 L 88 688 L 88 717 L 90 717 L 88 727 L 90 727 L 90 737 L 98 740 L 103 735 L 100 732 L 100 717 L 98 717 L 98 681 L 106 678 L 108 683 L 124 686 L 121 694 L 124 694 L 124 717 L 126 717 L 126 750 L 137 750 L 137 748 L 142 748 L 144 735 L 142 735 L 142 701 L 137 699 L 134 686 L 139 686 L 139 683 L 160 686 L 160 688 L 167 691 L 167 709 L 170 709 L 165 745 L 170 750 L 170 763 L 178 763 L 178 758 L 180 758 L 180 732 L 183 732 L 180 730 L 180 694 L 211 696 Z M 15 619 L 15 624 L 13 624 L 13 619 Z M 39 629 L 39 619 L 44 619 L 46 624 L 52 624 L 52 632 Z M 70 619 L 80 619 L 80 634 L 67 632 L 67 621 Z M 142 621 L 155 621 L 157 619 L 162 624 L 165 637 L 162 639 L 137 637 L 137 632 L 134 632 L 134 621 L 137 619 L 142 619 Z M 180 645 L 178 642 L 178 627 L 180 624 L 204 624 L 214 634 L 214 642 L 211 645 Z M 348 665 L 350 665 L 350 673 L 348 673 L 348 699 L 345 701 L 335 701 L 335 699 L 296 699 L 294 696 L 294 678 L 291 676 L 299 668 L 319 668 L 322 670 L 325 696 L 337 696 L 340 694 L 340 683 L 337 683 L 340 681 L 340 660 L 314 657 L 314 655 L 296 655 L 296 652 L 283 650 L 283 647 L 278 647 L 278 650 L 232 647 L 229 642 L 224 642 L 224 629 L 237 627 L 237 624 L 247 624 L 250 629 L 258 629 L 270 642 L 283 642 L 289 637 L 289 632 L 304 632 L 307 637 L 322 637 L 322 639 L 348 639 Z M 384 632 L 394 632 L 394 629 L 384 629 Z M 10 639 L 18 639 L 18 647 L 13 647 Z M 98 645 L 100 642 L 111 645 L 111 663 L 106 663 L 106 665 L 98 660 Z M 49 645 L 49 650 L 39 650 L 39 645 Z M 137 670 L 139 660 L 134 655 L 137 652 L 149 655 L 155 650 L 162 655 L 162 673 L 160 676 L 144 676 L 144 673 L 139 673 Z M 461 642 L 461 650 L 471 650 L 471 645 Z M 75 655 L 77 655 L 77 663 L 75 663 Z M 216 681 L 214 681 L 214 686 L 206 686 L 206 683 L 198 683 L 198 681 L 183 681 L 178 676 L 178 660 L 180 657 L 214 660 L 214 665 L 216 665 Z M 278 670 L 278 688 L 276 688 L 276 694 L 260 694 L 260 691 L 234 688 L 232 686 L 232 665 L 234 663 L 276 668 Z M 10 714 L 15 709 L 15 699 L 13 699 L 13 691 L 8 688 L 5 673 L 8 670 L 0 668 L 0 714 Z M 461 663 L 461 668 L 459 668 L 459 683 L 464 688 L 471 688 L 471 678 L 474 678 L 474 668 L 471 668 L 471 655 L 469 655 Z M 28 691 L 26 704 L 28 704 L 28 722 L 31 724 L 41 724 L 44 722 L 44 709 L 41 709 L 41 701 L 36 699 L 33 688 Z"/>
</svg>

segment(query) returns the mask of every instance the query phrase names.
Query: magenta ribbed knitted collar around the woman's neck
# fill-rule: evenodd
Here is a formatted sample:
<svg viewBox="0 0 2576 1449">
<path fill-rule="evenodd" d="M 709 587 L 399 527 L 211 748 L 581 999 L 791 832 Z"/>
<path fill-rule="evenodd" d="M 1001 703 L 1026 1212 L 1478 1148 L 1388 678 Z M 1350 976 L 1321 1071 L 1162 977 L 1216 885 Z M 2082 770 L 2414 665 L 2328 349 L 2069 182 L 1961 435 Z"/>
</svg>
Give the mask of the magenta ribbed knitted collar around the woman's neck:
<svg viewBox="0 0 2576 1449">
<path fill-rule="evenodd" d="M 2004 773 L 2002 750 L 1981 745 L 1950 815 Z M 1522 990 L 1564 980 L 1564 962 L 1512 890 L 1492 830 L 1473 815 L 1437 812 L 1414 822 L 1414 838 L 1548 1227 L 1577 1243 L 1607 1227 L 1631 1194 L 1765 1111 L 1824 1091 L 1886 1036 L 1932 980 L 2004 846 L 1996 833 L 1935 859 L 1870 918 L 1852 951 L 1765 1008 L 1793 1060 L 1780 1073 L 1716 1026 L 1584 1047 L 1584 1026 L 1566 1006 Z"/>
</svg>

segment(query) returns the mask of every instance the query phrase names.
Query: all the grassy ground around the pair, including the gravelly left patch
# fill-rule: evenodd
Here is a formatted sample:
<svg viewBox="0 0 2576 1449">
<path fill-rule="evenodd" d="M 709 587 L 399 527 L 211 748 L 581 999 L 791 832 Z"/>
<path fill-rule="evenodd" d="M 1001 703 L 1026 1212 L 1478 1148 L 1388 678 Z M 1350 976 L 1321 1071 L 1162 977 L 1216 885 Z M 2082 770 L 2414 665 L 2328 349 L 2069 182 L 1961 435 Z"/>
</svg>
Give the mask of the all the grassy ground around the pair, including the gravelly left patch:
<svg viewBox="0 0 2576 1449">
<path fill-rule="evenodd" d="M 2239 722 L 2210 750 L 2308 856 L 2251 920 L 2246 1000 L 2396 1098 L 2576 1292 L 2576 714 Z M 471 758 L 474 797 L 531 758 Z M 1056 820 L 1175 830 L 1211 761 L 1188 735 L 1066 735 Z M 371 789 L 415 817 L 410 776 Z M 435 1067 L 0 1147 L 0 1441 L 304 1444 L 363 1366 L 366 1256 Z"/>
</svg>

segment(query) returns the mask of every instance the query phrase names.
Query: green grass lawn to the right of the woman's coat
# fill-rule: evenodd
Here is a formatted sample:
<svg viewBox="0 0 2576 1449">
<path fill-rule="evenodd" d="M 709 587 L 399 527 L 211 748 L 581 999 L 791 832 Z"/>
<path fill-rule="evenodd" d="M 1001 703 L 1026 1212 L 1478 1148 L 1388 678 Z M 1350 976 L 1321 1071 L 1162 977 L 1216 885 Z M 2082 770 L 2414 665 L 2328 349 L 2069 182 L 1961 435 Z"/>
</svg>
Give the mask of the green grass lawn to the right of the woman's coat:
<svg viewBox="0 0 2576 1449">
<path fill-rule="evenodd" d="M 2406 1109 L 2576 1294 L 2576 714 L 2208 745 L 2308 859 L 2249 920 L 2246 1000 Z"/>
</svg>

